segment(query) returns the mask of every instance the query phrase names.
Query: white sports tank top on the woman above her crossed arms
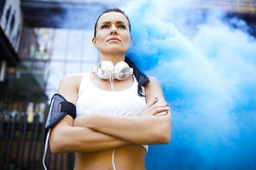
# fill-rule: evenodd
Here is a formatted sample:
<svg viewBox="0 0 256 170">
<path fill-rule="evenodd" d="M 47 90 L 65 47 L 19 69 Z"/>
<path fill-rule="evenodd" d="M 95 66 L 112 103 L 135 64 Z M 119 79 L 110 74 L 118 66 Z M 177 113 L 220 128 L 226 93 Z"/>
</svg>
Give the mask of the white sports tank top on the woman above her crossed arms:
<svg viewBox="0 0 256 170">
<path fill-rule="evenodd" d="M 86 72 L 80 83 L 76 103 L 76 114 L 100 113 L 118 116 L 138 116 L 146 105 L 145 98 L 138 96 L 138 82 L 124 91 L 105 91 L 93 85 L 90 72 Z"/>
</svg>

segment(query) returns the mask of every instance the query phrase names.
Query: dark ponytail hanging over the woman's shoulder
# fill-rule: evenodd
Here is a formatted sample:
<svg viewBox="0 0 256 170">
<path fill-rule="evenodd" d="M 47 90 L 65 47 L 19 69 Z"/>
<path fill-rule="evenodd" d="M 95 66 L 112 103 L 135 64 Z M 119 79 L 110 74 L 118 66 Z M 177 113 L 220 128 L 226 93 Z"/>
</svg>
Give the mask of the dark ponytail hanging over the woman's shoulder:
<svg viewBox="0 0 256 170">
<path fill-rule="evenodd" d="M 125 62 L 133 68 L 133 75 L 138 81 L 138 96 L 145 97 L 142 87 L 148 85 L 148 83 L 150 83 L 150 79 L 144 73 L 139 72 L 137 66 L 135 66 L 134 62 L 132 62 L 128 57 L 125 57 Z"/>
</svg>

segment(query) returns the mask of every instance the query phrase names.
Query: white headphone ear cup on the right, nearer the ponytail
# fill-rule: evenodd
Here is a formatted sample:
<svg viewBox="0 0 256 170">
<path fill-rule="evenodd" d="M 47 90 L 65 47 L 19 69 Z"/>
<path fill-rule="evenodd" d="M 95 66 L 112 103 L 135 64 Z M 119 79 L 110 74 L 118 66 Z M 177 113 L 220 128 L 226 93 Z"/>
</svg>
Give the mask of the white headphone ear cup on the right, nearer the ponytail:
<svg viewBox="0 0 256 170">
<path fill-rule="evenodd" d="M 133 73 L 133 69 L 129 67 L 125 61 L 120 61 L 114 66 L 114 77 L 118 80 L 124 80 Z"/>
</svg>

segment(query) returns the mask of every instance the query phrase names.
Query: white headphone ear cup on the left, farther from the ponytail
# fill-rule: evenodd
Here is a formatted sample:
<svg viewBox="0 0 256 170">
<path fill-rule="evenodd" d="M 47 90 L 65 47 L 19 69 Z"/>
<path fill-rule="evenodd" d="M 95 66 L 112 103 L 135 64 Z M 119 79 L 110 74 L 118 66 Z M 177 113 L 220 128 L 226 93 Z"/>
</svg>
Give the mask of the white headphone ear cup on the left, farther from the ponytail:
<svg viewBox="0 0 256 170">
<path fill-rule="evenodd" d="M 110 75 L 113 72 L 113 64 L 109 60 L 104 60 L 99 62 L 98 66 L 96 66 L 96 69 L 93 70 L 93 72 L 96 72 L 99 78 L 101 79 L 109 79 Z"/>
</svg>

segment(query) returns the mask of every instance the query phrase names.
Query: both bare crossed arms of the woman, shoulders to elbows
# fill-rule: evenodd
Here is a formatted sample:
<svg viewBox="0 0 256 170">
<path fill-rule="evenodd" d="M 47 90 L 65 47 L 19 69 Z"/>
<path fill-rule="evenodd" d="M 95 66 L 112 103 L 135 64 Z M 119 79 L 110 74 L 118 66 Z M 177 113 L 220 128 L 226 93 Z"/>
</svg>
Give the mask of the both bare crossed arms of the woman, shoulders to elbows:
<svg viewBox="0 0 256 170">
<path fill-rule="evenodd" d="M 67 101 L 76 104 L 79 82 L 79 75 L 67 76 L 61 80 L 58 92 Z M 54 154 L 82 153 L 117 148 L 130 143 L 168 143 L 171 116 L 163 98 L 162 88 L 156 79 L 150 78 L 150 84 L 145 91 L 147 106 L 140 116 L 86 113 L 75 120 L 71 116 L 65 116 L 52 129 L 51 151 Z"/>
</svg>

